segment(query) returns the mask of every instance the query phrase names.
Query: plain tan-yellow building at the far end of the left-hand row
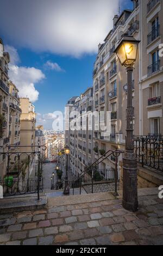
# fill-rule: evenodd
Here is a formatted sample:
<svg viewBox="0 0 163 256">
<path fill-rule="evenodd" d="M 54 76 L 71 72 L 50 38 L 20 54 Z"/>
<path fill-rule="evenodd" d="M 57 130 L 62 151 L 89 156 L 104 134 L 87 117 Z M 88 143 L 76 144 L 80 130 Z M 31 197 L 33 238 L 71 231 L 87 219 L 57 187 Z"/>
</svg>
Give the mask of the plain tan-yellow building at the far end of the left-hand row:
<svg viewBox="0 0 163 256">
<path fill-rule="evenodd" d="M 21 130 L 20 130 L 20 145 L 28 145 L 31 147 L 21 147 L 21 151 L 34 151 L 35 150 L 35 123 L 36 113 L 35 107 L 28 98 L 20 98 L 21 114 Z"/>
</svg>

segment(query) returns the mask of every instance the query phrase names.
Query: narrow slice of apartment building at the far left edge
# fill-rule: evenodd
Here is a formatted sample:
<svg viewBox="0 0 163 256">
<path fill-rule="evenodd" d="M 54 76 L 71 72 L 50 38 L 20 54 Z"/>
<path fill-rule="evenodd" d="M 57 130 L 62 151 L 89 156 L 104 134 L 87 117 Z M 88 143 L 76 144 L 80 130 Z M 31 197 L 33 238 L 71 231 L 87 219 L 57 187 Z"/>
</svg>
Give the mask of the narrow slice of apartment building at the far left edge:
<svg viewBox="0 0 163 256">
<path fill-rule="evenodd" d="M 2 39 L 0 39 L 0 150 L 6 152 L 9 145 L 9 76 L 8 64 L 10 56 L 8 52 L 4 51 Z M 7 157 L 0 156 L 0 179 L 2 179 L 6 172 Z"/>
</svg>

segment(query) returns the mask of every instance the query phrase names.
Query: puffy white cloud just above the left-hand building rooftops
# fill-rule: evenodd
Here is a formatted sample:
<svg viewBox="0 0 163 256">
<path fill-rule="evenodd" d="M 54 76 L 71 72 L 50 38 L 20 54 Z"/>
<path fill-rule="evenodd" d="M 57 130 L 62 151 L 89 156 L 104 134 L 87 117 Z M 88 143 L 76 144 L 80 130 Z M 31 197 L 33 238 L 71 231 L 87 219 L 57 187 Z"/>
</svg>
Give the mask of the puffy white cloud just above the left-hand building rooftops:
<svg viewBox="0 0 163 256">
<path fill-rule="evenodd" d="M 5 51 L 10 54 L 9 78 L 15 83 L 19 90 L 20 97 L 28 96 L 30 101 L 34 102 L 39 97 L 39 92 L 35 89 L 35 83 L 40 82 L 45 75 L 40 69 L 26 66 L 17 66 L 20 62 L 17 50 L 12 46 L 5 46 Z"/>
</svg>

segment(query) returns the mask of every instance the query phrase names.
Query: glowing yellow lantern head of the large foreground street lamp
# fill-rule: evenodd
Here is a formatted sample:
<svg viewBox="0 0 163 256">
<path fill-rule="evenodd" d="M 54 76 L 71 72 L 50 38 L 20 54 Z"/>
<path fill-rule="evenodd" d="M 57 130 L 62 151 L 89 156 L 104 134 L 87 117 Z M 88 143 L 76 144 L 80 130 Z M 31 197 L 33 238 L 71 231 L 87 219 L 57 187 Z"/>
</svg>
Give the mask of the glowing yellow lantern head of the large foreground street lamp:
<svg viewBox="0 0 163 256">
<path fill-rule="evenodd" d="M 133 36 L 123 36 L 115 50 L 122 66 L 130 67 L 134 65 L 139 42 Z"/>
</svg>

